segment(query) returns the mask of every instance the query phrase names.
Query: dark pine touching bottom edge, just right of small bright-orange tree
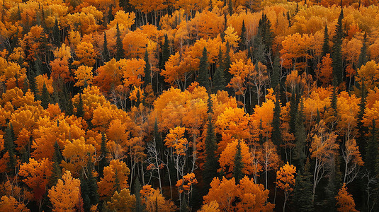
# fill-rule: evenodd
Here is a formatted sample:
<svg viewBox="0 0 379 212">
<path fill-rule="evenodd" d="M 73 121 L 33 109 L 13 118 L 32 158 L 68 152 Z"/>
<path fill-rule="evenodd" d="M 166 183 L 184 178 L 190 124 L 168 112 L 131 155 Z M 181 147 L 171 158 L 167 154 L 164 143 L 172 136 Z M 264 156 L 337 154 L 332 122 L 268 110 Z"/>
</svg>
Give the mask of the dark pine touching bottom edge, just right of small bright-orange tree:
<svg viewBox="0 0 379 212">
<path fill-rule="evenodd" d="M 293 203 L 296 211 L 312 212 L 315 211 L 312 202 L 312 184 L 310 182 L 310 162 L 305 163 L 304 171 L 298 170 L 295 179 L 295 189 L 293 194 Z"/>
</svg>

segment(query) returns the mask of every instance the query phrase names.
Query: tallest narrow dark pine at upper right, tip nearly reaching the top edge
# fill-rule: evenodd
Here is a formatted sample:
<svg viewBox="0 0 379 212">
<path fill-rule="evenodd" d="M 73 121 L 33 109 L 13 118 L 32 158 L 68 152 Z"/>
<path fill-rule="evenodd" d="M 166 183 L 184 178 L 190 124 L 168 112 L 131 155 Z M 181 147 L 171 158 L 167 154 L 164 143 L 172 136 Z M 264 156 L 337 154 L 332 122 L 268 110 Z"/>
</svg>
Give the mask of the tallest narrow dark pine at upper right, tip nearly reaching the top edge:
<svg viewBox="0 0 379 212">
<path fill-rule="evenodd" d="M 342 78 L 344 77 L 344 66 L 342 64 L 342 53 L 341 46 L 342 40 L 344 37 L 344 31 L 342 29 L 342 19 L 344 18 L 344 9 L 341 9 L 337 25 L 336 25 L 336 34 L 333 37 L 333 47 L 332 47 L 332 67 L 333 75 L 336 77 L 337 83 L 341 83 Z"/>
</svg>

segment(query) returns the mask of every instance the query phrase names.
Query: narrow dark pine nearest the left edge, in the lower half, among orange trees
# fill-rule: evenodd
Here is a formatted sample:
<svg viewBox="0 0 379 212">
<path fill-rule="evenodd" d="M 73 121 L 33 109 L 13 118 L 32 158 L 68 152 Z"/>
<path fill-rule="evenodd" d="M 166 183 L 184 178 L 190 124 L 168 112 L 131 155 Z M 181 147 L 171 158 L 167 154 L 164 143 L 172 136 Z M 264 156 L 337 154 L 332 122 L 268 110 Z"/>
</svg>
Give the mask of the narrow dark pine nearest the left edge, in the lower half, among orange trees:
<svg viewBox="0 0 379 212">
<path fill-rule="evenodd" d="M 13 175 L 16 168 L 16 150 L 14 141 L 16 141 L 16 138 L 14 136 L 12 123 L 10 123 L 5 129 L 4 150 L 8 152 L 9 155 L 9 161 L 6 163 L 6 167 L 11 175 Z"/>
</svg>

